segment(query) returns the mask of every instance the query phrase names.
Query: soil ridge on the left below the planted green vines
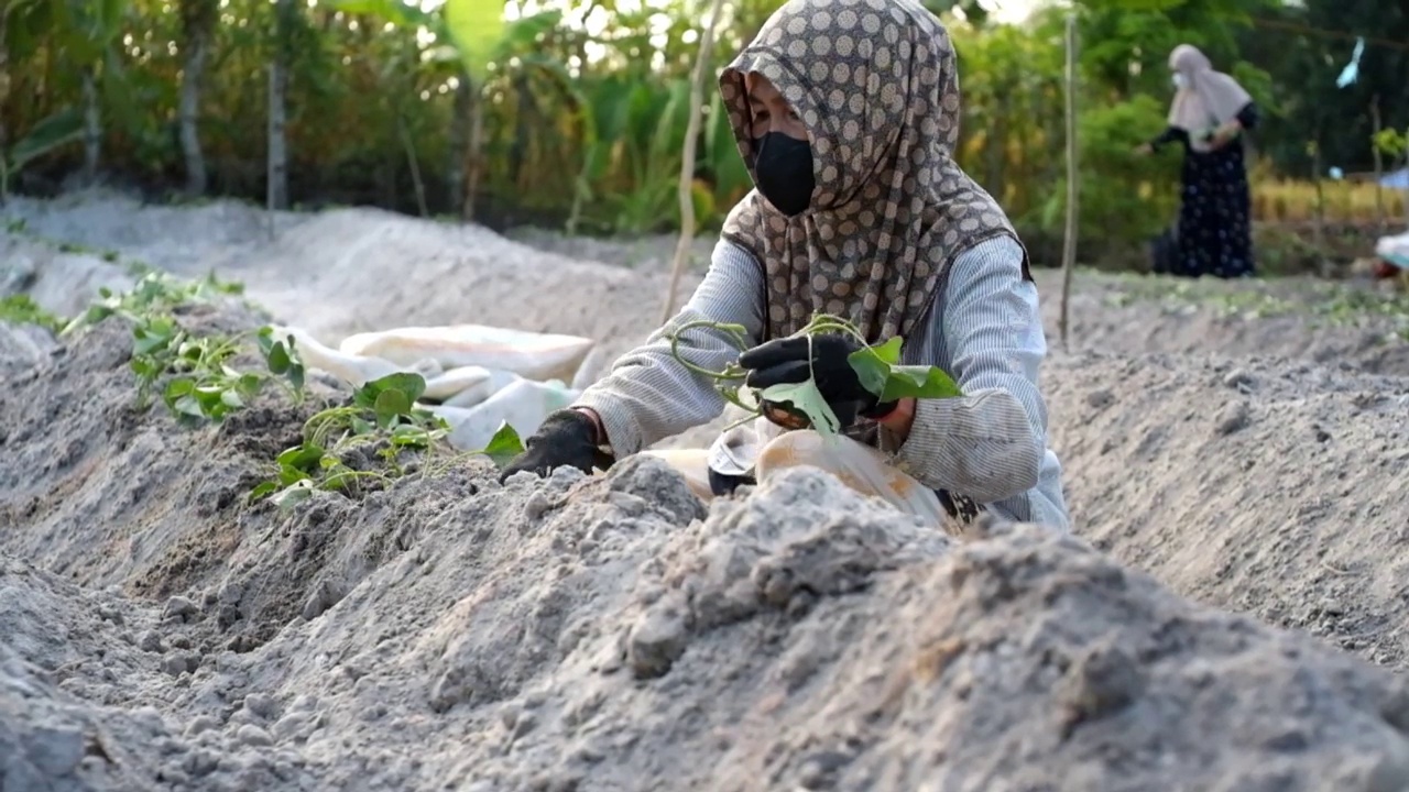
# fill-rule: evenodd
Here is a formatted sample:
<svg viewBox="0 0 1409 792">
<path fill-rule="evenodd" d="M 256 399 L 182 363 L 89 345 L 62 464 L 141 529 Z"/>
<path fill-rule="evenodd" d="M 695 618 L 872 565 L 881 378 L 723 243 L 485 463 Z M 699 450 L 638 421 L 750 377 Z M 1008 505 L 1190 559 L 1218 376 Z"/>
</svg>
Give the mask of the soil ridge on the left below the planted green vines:
<svg viewBox="0 0 1409 792">
<path fill-rule="evenodd" d="M 182 321 L 254 324 L 231 306 L 196 307 Z M 137 407 L 131 345 L 130 326 L 110 318 L 7 383 L 0 524 L 24 530 L 0 533 L 0 551 L 83 586 L 165 603 L 189 629 L 179 644 L 151 645 L 179 672 L 320 613 L 393 550 L 397 514 L 382 507 L 385 493 L 318 493 L 294 514 L 248 497 L 275 472 L 275 457 L 300 443 L 303 421 L 344 395 L 314 380 L 293 404 L 266 390 L 221 426 L 186 430 L 159 404 Z M 417 497 L 437 505 L 472 490 L 441 482 L 440 493 Z"/>
</svg>

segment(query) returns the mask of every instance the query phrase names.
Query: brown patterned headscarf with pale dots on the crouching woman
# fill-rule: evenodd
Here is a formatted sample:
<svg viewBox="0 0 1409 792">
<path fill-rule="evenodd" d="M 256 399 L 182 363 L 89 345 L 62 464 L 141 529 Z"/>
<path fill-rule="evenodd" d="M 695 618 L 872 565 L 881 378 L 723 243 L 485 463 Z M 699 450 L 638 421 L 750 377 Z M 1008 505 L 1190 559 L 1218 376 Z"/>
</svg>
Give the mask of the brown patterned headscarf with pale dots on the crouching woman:
<svg viewBox="0 0 1409 792">
<path fill-rule="evenodd" d="M 872 342 L 909 338 L 958 254 L 998 235 L 1022 245 L 954 162 L 954 47 L 916 0 L 789 0 L 724 69 L 720 93 L 757 186 L 748 72 L 802 118 L 816 179 L 809 211 L 789 218 L 754 189 L 724 220 L 724 238 L 764 266 L 766 337 L 830 313 Z"/>
</svg>

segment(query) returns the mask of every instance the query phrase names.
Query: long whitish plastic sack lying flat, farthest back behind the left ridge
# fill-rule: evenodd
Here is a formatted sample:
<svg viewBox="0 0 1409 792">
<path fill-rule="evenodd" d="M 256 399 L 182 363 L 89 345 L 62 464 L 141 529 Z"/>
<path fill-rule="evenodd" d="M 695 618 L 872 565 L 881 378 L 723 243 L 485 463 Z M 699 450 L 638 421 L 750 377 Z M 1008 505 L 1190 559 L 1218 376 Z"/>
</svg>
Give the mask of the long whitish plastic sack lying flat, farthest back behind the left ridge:
<svg viewBox="0 0 1409 792">
<path fill-rule="evenodd" d="M 527 379 L 566 382 L 572 380 L 593 344 L 579 335 L 454 324 L 358 333 L 344 338 L 340 349 L 402 365 L 431 358 L 445 368 L 483 366 L 511 371 Z"/>
</svg>

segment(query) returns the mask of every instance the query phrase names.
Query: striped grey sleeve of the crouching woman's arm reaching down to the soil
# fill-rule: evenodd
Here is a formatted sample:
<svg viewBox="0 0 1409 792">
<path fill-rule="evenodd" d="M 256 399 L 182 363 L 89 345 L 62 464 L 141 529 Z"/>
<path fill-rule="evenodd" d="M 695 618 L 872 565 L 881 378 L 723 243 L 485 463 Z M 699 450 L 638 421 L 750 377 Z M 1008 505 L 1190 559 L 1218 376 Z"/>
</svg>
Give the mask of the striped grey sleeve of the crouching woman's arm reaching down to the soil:
<svg viewBox="0 0 1409 792">
<path fill-rule="evenodd" d="M 714 380 L 686 368 L 671 354 L 671 335 L 690 321 L 744 326 L 744 340 L 758 342 L 764 324 L 764 273 L 754 256 L 720 240 L 709 272 L 689 302 L 644 344 L 621 355 L 602 380 L 582 392 L 575 407 L 602 417 L 602 428 L 617 458 L 719 417 L 724 397 Z M 738 359 L 730 338 L 695 327 L 681 337 L 681 357 L 706 371 L 721 371 Z"/>
</svg>

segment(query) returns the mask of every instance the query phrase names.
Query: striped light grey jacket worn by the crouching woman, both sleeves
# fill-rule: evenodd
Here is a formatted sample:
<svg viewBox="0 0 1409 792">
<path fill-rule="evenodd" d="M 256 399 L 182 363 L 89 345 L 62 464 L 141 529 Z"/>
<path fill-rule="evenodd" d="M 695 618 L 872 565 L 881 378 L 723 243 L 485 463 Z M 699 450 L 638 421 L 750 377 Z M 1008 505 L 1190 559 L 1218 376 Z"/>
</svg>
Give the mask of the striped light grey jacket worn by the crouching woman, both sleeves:
<svg viewBox="0 0 1409 792">
<path fill-rule="evenodd" d="M 1037 287 L 1022 278 L 1022 249 L 1007 237 L 961 254 L 900 357 L 934 365 L 964 390 L 921 399 L 896 462 L 920 483 L 965 495 L 999 516 L 1069 530 L 1061 464 L 1047 448 L 1047 406 L 1037 386 L 1047 355 Z M 575 406 L 602 417 L 617 458 L 716 419 L 726 406 L 713 383 L 671 355 L 669 335 L 688 321 L 741 324 L 757 342 L 764 327 L 764 273 L 745 249 L 720 240 L 689 303 L 645 344 L 617 359 Z M 721 371 L 738 357 L 723 334 L 692 328 L 682 357 Z"/>
</svg>

